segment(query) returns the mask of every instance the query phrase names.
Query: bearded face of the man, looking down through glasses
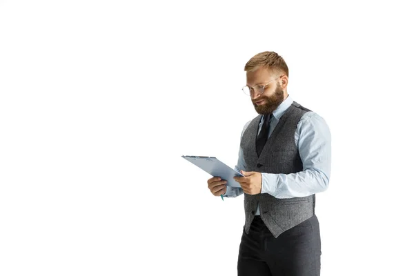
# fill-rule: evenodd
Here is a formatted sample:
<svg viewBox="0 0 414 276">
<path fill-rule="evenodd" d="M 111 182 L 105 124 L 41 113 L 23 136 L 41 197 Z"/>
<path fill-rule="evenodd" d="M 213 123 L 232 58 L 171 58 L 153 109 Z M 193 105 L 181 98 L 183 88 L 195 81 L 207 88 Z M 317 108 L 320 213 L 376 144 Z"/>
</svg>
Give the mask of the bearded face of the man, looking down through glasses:
<svg viewBox="0 0 414 276">
<path fill-rule="evenodd" d="M 279 86 L 279 75 L 273 72 L 272 70 L 268 70 L 267 68 L 259 68 L 253 72 L 247 73 L 247 86 L 266 86 L 263 94 L 259 94 L 258 92 L 252 92 L 250 94 L 253 106 L 257 113 L 266 115 L 270 114 L 275 110 L 282 101 L 284 101 L 284 91 L 282 87 Z M 275 79 L 275 81 L 272 81 Z"/>
</svg>

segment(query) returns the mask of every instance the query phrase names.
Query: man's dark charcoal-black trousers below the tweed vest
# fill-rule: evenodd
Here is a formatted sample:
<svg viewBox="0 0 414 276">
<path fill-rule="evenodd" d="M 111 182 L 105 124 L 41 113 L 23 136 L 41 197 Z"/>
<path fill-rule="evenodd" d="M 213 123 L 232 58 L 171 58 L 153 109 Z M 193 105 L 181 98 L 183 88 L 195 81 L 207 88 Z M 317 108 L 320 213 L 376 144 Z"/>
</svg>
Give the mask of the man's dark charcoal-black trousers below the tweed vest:
<svg viewBox="0 0 414 276">
<path fill-rule="evenodd" d="M 319 276 L 321 268 L 319 221 L 313 215 L 273 237 L 260 216 L 249 233 L 243 229 L 239 248 L 239 276 Z"/>
</svg>

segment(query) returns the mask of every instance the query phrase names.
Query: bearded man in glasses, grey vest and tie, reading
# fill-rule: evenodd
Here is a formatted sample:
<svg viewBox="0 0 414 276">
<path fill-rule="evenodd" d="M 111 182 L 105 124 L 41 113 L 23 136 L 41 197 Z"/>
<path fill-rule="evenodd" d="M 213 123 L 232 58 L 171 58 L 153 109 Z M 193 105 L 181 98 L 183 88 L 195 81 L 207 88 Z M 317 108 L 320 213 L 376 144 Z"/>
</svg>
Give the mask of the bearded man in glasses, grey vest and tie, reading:
<svg viewBox="0 0 414 276">
<path fill-rule="evenodd" d="M 244 177 L 235 177 L 241 188 L 208 179 L 215 196 L 244 193 L 238 275 L 320 275 L 315 194 L 328 188 L 331 174 L 329 128 L 288 95 L 288 66 L 277 53 L 255 55 L 244 70 L 243 90 L 259 116 L 242 131 L 237 168 Z"/>
</svg>

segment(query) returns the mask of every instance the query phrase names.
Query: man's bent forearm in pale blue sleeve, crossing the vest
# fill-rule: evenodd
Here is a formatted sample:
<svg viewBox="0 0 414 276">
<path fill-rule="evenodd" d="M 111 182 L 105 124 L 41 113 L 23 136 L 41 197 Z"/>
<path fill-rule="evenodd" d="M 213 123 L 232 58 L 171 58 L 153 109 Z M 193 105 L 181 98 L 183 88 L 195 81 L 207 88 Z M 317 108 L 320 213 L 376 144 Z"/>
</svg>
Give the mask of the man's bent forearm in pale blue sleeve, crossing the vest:
<svg viewBox="0 0 414 276">
<path fill-rule="evenodd" d="M 288 175 L 262 172 L 262 193 L 281 199 L 321 193 L 328 185 L 329 179 L 326 174 L 315 168 Z"/>
</svg>

